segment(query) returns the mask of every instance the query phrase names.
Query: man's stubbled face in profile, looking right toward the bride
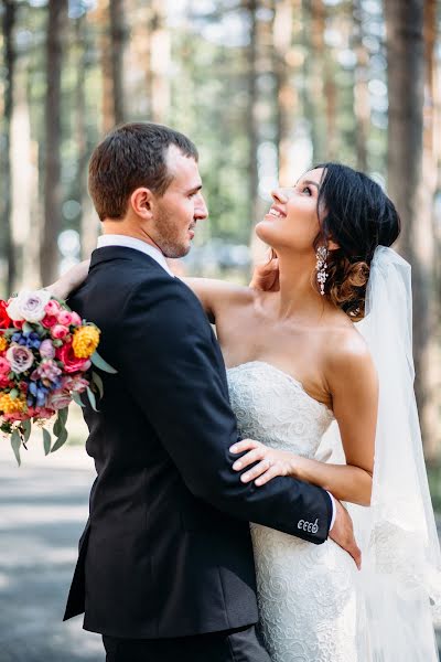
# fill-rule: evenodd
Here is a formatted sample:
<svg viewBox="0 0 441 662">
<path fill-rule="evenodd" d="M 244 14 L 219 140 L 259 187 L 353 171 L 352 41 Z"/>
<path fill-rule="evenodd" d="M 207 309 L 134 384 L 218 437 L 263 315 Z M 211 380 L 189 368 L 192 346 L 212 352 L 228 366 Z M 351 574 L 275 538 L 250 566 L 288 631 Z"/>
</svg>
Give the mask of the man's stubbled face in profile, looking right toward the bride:
<svg viewBox="0 0 441 662">
<path fill-rule="evenodd" d="M 152 238 L 165 257 L 183 257 L 190 250 L 197 221 L 204 221 L 208 211 L 196 161 L 172 145 L 166 162 L 173 180 L 165 193 L 154 199 Z"/>
</svg>

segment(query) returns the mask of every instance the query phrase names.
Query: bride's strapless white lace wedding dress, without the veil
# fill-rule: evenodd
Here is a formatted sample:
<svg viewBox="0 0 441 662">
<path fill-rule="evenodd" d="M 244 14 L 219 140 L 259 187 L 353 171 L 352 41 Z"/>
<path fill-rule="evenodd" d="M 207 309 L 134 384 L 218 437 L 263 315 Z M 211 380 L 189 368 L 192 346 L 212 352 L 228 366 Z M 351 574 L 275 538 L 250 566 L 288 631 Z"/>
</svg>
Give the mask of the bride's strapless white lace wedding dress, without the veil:
<svg viewBox="0 0 441 662">
<path fill-rule="evenodd" d="M 262 361 L 227 371 L 243 437 L 313 458 L 332 412 Z M 356 567 L 333 541 L 313 545 L 251 524 L 260 622 L 272 662 L 357 662 Z"/>
</svg>

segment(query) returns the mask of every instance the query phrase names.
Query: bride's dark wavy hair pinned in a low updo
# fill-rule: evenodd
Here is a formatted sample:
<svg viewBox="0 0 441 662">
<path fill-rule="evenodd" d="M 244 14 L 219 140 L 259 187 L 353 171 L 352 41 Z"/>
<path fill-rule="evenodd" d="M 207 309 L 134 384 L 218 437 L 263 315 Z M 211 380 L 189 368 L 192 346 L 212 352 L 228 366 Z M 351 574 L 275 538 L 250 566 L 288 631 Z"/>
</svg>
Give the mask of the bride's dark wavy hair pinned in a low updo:
<svg viewBox="0 0 441 662">
<path fill-rule="evenodd" d="M 321 163 L 318 214 L 321 231 L 314 248 L 332 239 L 324 293 L 353 321 L 365 313 L 366 287 L 377 246 L 391 246 L 400 233 L 400 218 L 381 186 L 363 172 L 340 163 Z"/>
</svg>

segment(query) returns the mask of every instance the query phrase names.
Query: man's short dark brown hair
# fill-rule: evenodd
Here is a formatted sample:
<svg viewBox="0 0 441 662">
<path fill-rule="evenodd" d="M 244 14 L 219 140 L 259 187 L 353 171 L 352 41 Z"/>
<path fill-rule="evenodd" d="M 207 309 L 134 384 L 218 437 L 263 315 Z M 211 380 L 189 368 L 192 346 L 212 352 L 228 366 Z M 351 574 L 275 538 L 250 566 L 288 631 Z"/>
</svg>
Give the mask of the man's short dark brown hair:
<svg viewBox="0 0 441 662">
<path fill-rule="evenodd" d="M 130 194 L 146 186 L 159 195 L 169 188 L 173 173 L 166 152 L 175 145 L 195 161 L 195 145 L 183 134 L 153 122 L 117 127 L 95 148 L 89 162 L 89 193 L 101 221 L 122 218 Z"/>
</svg>

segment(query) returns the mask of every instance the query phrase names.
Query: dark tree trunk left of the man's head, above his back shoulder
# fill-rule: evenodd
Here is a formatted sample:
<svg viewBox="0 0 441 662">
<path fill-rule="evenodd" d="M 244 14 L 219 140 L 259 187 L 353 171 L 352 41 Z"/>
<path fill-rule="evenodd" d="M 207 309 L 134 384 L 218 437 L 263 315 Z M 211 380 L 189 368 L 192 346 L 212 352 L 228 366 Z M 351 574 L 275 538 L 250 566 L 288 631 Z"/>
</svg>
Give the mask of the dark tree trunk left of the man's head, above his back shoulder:
<svg viewBox="0 0 441 662">
<path fill-rule="evenodd" d="M 44 228 L 41 249 L 41 276 L 44 285 L 58 275 L 57 238 L 62 223 L 61 182 L 61 79 L 63 49 L 66 43 L 67 0 L 49 1 L 46 41 Z"/>
</svg>

